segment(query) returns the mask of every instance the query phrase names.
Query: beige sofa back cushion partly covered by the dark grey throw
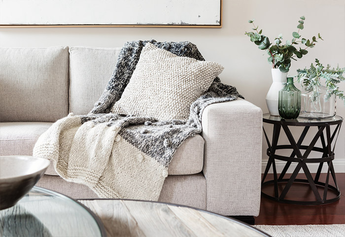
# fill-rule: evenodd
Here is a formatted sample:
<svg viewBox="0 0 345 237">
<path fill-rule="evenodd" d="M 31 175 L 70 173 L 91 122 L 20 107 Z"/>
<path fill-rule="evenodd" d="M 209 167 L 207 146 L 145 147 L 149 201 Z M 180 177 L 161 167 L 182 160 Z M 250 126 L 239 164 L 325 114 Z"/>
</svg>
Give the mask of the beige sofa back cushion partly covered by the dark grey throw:
<svg viewBox="0 0 345 237">
<path fill-rule="evenodd" d="M 71 47 L 69 112 L 88 114 L 102 95 L 121 48 Z"/>
</svg>

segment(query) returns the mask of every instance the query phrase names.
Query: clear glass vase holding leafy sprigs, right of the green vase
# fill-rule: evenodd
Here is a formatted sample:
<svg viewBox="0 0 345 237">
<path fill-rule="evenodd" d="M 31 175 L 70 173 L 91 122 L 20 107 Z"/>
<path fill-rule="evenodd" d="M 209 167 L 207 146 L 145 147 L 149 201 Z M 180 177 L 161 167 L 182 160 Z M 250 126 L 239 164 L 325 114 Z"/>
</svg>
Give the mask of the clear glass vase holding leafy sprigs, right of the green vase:
<svg viewBox="0 0 345 237">
<path fill-rule="evenodd" d="M 326 98 L 327 88 L 319 86 L 317 93 L 304 91 L 302 93 L 301 118 L 330 118 L 336 115 L 336 96 Z"/>
</svg>

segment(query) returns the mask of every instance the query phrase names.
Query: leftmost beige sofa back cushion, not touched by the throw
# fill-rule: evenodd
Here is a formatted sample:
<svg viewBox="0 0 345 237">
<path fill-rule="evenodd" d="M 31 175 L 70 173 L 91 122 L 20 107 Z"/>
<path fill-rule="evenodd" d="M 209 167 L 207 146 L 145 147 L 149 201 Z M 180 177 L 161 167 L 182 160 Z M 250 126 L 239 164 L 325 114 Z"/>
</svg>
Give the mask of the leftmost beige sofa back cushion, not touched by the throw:
<svg viewBox="0 0 345 237">
<path fill-rule="evenodd" d="M 0 121 L 67 116 L 68 47 L 0 48 L 0 55 Z"/>
</svg>

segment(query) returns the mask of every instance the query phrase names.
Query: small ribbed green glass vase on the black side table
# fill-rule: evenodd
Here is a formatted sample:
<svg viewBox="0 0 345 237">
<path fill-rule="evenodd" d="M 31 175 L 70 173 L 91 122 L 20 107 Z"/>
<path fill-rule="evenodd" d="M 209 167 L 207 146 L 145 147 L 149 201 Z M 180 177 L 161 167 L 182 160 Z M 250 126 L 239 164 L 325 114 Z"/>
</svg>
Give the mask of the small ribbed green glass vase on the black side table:
<svg viewBox="0 0 345 237">
<path fill-rule="evenodd" d="M 293 77 L 288 77 L 286 85 L 279 90 L 278 111 L 281 118 L 297 118 L 301 111 L 301 90 L 293 84 Z"/>
</svg>

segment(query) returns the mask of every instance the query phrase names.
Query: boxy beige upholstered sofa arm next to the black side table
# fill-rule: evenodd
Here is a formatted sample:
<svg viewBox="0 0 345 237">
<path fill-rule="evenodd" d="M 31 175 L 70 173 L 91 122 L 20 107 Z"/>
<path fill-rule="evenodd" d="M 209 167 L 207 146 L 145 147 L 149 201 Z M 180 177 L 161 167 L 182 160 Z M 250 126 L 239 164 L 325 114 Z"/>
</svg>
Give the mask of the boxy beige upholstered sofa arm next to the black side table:
<svg viewBox="0 0 345 237">
<path fill-rule="evenodd" d="M 257 216 L 260 209 L 262 111 L 243 99 L 211 104 L 202 117 L 207 210 Z"/>
</svg>

